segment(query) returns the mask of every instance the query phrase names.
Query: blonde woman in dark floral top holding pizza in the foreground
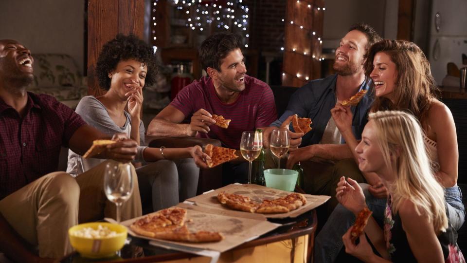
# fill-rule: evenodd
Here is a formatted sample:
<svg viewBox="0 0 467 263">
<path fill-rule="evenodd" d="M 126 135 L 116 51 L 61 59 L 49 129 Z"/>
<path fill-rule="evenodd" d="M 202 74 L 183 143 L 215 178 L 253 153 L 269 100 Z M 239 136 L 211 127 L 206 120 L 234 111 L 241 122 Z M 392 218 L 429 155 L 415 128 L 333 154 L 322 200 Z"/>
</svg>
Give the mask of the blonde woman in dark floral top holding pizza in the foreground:
<svg viewBox="0 0 467 263">
<path fill-rule="evenodd" d="M 413 115 L 400 111 L 370 113 L 356 147 L 359 169 L 374 172 L 389 190 L 384 231 L 370 218 L 366 237 L 342 237 L 347 253 L 364 262 L 462 262 L 455 230 L 446 215 L 443 187 L 433 176 L 423 131 Z M 357 214 L 366 207 L 359 184 L 342 177 L 336 189 L 342 206 Z"/>
</svg>

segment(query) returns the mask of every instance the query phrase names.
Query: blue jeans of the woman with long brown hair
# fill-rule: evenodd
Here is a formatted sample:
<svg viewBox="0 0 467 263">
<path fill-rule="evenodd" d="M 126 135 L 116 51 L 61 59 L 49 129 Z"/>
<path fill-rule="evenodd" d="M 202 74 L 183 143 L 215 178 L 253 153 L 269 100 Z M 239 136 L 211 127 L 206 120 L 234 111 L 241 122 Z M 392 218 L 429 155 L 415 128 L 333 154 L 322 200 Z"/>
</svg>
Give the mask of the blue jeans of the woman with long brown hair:
<svg viewBox="0 0 467 263">
<path fill-rule="evenodd" d="M 366 204 L 373 211 L 373 218 L 378 225 L 384 222 L 386 199 L 379 199 L 368 191 L 368 184 L 359 184 L 365 194 Z M 458 186 L 445 189 L 445 198 L 449 209 L 449 222 L 455 229 L 461 228 L 465 220 L 465 208 L 462 193 Z M 354 224 L 355 215 L 339 204 L 329 216 L 326 224 L 315 239 L 315 263 L 335 262 L 343 247 L 342 236 Z"/>
</svg>

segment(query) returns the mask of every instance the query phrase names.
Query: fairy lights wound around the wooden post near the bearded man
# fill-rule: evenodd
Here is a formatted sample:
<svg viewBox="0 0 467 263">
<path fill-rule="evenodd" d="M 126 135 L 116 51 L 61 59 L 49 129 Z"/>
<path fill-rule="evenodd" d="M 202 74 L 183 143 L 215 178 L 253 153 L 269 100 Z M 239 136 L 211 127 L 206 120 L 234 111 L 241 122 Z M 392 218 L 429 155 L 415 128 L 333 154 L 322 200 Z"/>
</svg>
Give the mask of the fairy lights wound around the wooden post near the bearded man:
<svg viewBox="0 0 467 263">
<path fill-rule="evenodd" d="M 302 1 L 297 0 L 295 8 L 308 8 L 308 9 L 315 8 L 317 11 L 320 11 L 320 12 L 324 12 L 326 10 L 325 7 L 313 6 L 313 4 L 309 4 L 305 0 L 302 0 Z M 292 16 L 292 17 L 295 17 L 295 16 Z M 307 25 L 302 25 L 294 20 L 286 21 L 286 19 L 282 19 L 282 22 L 289 23 L 290 26 L 296 26 L 300 28 L 300 30 L 304 30 L 307 34 L 310 35 L 310 37 L 316 38 L 319 41 L 320 45 L 323 44 L 322 37 L 318 36 L 318 34 L 315 31 L 312 31 L 310 28 L 308 28 Z M 298 55 L 305 56 L 305 57 L 311 57 L 312 59 L 317 59 L 318 61 L 324 60 L 324 57 L 322 57 L 321 54 L 313 54 L 309 49 L 299 50 L 297 46 L 298 45 L 296 44 L 292 44 L 291 47 L 281 47 L 281 51 L 291 52 L 291 53 L 298 54 Z M 309 73 L 305 74 L 302 72 L 297 72 L 297 73 L 292 74 L 292 73 L 288 73 L 286 70 L 283 70 L 282 77 L 284 79 L 287 76 L 291 76 L 291 77 L 296 77 L 302 81 L 307 81 L 310 79 L 310 77 L 307 74 Z"/>
</svg>

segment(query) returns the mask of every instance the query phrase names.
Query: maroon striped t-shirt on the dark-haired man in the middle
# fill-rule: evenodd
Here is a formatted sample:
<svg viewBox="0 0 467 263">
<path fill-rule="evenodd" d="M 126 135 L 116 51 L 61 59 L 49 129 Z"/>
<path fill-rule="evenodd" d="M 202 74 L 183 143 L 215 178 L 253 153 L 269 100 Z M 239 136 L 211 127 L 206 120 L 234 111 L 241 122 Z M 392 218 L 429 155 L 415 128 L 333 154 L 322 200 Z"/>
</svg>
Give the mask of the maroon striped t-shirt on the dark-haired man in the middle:
<svg viewBox="0 0 467 263">
<path fill-rule="evenodd" d="M 239 149 L 243 131 L 268 127 L 277 119 L 274 94 L 268 84 L 245 75 L 245 86 L 234 103 L 225 104 L 217 97 L 213 80 L 202 77 L 184 87 L 170 105 L 180 110 L 185 118 L 202 108 L 211 114 L 231 119 L 228 129 L 211 125 L 211 131 L 199 134 L 201 137 L 218 139 L 228 148 Z"/>
</svg>

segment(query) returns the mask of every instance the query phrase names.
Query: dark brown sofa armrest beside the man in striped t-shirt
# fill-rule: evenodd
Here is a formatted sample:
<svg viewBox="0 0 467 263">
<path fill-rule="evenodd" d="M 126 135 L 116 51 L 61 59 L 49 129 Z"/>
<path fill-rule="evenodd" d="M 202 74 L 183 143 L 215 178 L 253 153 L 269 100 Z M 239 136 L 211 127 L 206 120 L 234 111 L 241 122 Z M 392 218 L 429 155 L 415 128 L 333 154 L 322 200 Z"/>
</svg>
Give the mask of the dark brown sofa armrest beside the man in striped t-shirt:
<svg viewBox="0 0 467 263">
<path fill-rule="evenodd" d="M 220 141 L 216 139 L 197 138 L 197 137 L 184 137 L 184 138 L 170 138 L 146 135 L 145 143 L 148 147 L 159 148 L 161 146 L 167 148 L 186 148 L 195 145 L 201 146 L 203 149 L 206 145 L 212 144 L 220 147 Z M 198 190 L 197 194 L 217 189 L 222 187 L 222 166 L 218 165 L 210 169 L 199 169 Z M 184 200 L 180 200 L 183 202 Z"/>
</svg>

